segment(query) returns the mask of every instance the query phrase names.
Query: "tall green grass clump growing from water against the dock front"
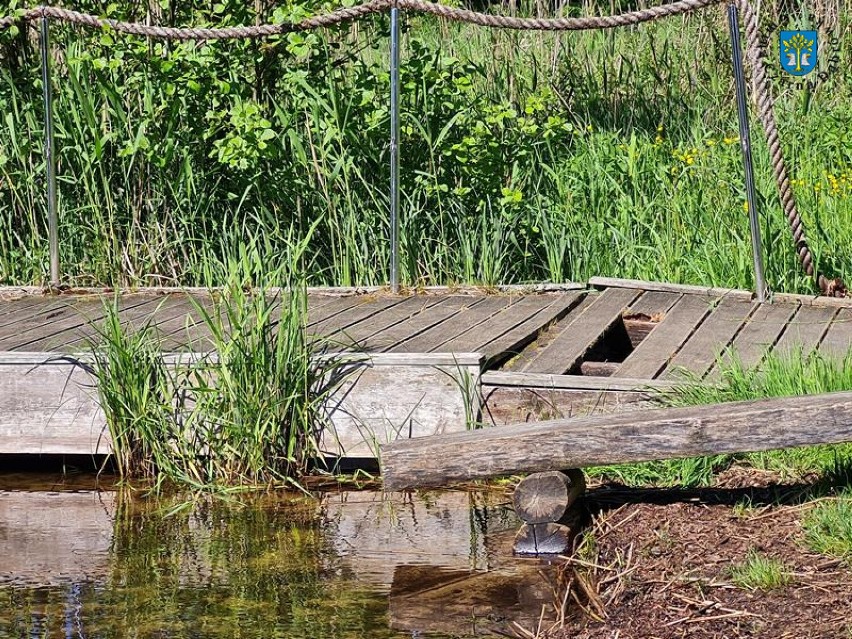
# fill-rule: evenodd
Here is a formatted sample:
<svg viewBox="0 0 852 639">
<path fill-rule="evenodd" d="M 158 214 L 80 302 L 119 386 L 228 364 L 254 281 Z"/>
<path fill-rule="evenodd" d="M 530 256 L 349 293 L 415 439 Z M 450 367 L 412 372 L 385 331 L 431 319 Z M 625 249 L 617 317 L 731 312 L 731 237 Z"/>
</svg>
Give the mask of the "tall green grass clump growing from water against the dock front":
<svg viewBox="0 0 852 639">
<path fill-rule="evenodd" d="M 309 341 L 304 278 L 273 281 L 283 288 L 247 291 L 232 276 L 212 309 L 197 305 L 211 335 L 191 345 L 211 353 L 200 361 L 164 361 L 155 326 L 123 326 L 108 307 L 92 352 L 122 475 L 263 484 L 291 480 L 317 456 L 324 400 L 342 369 Z"/>
</svg>

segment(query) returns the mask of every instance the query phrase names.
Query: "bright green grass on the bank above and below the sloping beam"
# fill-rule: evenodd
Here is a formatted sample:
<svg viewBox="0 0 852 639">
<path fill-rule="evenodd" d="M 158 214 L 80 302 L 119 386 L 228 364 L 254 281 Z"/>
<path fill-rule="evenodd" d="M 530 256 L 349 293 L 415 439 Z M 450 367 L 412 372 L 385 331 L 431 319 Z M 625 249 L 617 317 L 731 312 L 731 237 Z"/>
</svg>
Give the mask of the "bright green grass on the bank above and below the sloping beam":
<svg viewBox="0 0 852 639">
<path fill-rule="evenodd" d="M 754 368 L 743 366 L 735 354 L 728 354 L 718 359 L 718 365 L 722 372 L 718 384 L 699 384 L 700 380 L 686 376 L 681 386 L 661 394 L 659 401 L 666 406 L 701 406 L 852 390 L 852 351 L 843 358 L 819 352 L 773 352 Z M 852 444 L 619 464 L 589 468 L 587 472 L 630 486 L 695 487 L 712 484 L 720 472 L 735 463 L 786 478 L 817 475 L 831 483 L 848 483 L 852 480 Z"/>
</svg>

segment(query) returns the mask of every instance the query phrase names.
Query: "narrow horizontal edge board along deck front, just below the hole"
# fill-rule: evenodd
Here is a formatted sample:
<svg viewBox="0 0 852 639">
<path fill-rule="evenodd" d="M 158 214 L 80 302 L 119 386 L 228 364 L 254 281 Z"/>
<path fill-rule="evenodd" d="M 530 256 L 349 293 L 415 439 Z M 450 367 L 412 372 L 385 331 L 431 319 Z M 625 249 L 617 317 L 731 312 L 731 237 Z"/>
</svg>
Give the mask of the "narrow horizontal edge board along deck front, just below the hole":
<svg viewBox="0 0 852 639">
<path fill-rule="evenodd" d="M 587 375 L 551 375 L 549 373 L 515 373 L 489 371 L 480 378 L 485 387 L 514 387 L 553 390 L 581 390 L 601 392 L 650 393 L 671 390 L 678 386 L 674 382 L 652 379 L 628 379 L 624 377 L 592 377 Z"/>
</svg>

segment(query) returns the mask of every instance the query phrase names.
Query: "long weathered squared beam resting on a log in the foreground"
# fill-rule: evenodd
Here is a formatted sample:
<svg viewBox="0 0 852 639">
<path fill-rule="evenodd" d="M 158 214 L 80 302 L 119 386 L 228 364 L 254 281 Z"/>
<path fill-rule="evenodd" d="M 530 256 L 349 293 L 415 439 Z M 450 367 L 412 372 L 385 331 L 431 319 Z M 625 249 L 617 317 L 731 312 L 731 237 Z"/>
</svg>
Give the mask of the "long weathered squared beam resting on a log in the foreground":
<svg viewBox="0 0 852 639">
<path fill-rule="evenodd" d="M 385 490 L 852 441 L 852 392 L 556 419 L 381 447 Z"/>
</svg>

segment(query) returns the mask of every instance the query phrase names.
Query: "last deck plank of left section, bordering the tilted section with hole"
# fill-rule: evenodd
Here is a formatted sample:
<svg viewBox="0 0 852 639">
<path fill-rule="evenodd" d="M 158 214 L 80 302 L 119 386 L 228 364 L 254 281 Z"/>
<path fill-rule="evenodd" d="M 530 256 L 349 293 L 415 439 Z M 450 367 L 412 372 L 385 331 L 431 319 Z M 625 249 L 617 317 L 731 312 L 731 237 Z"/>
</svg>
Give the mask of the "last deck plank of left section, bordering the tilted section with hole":
<svg viewBox="0 0 852 639">
<path fill-rule="evenodd" d="M 479 326 L 445 343 L 448 352 L 479 351 L 489 360 L 511 356 L 548 324 L 566 315 L 584 297 L 581 292 L 524 297 Z"/>
</svg>

